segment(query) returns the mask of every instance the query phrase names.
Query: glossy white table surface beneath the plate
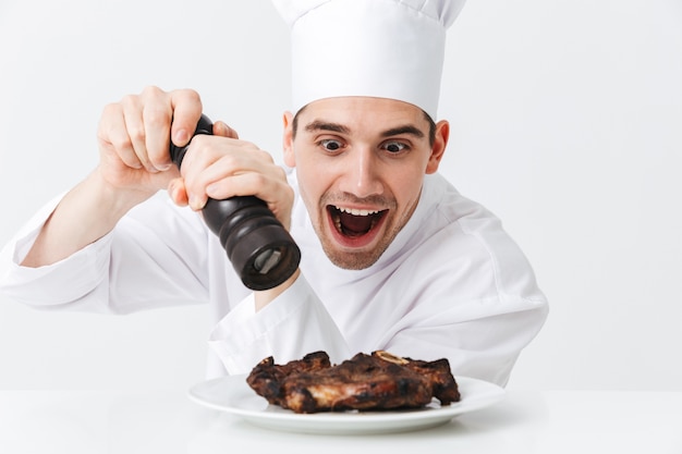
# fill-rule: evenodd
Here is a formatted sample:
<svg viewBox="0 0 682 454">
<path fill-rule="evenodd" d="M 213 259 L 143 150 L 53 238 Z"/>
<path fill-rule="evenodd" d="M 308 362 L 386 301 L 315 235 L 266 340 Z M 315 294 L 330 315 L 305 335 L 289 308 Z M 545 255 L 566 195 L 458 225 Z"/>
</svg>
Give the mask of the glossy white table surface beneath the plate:
<svg viewBox="0 0 682 454">
<path fill-rule="evenodd" d="M 508 391 L 437 428 L 310 435 L 257 428 L 186 391 L 0 391 L 0 453 L 682 453 L 682 393 Z M 248 451 L 245 451 L 248 450 Z M 386 450 L 386 451 L 385 451 Z"/>
</svg>

